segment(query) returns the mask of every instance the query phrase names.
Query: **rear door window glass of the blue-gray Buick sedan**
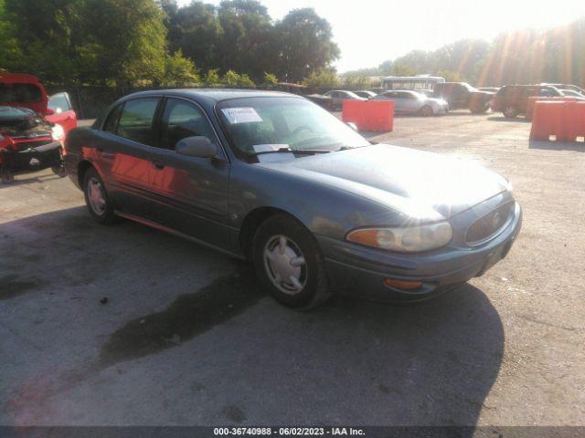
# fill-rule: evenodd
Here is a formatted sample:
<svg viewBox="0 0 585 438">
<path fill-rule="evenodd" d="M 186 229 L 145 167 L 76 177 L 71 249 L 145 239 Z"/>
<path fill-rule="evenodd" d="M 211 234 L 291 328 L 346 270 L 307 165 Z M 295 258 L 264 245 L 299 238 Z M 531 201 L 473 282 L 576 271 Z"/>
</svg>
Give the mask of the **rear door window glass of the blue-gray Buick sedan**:
<svg viewBox="0 0 585 438">
<path fill-rule="evenodd" d="M 124 139 L 153 146 L 153 120 L 159 100 L 144 98 L 125 102 L 116 133 Z"/>
</svg>

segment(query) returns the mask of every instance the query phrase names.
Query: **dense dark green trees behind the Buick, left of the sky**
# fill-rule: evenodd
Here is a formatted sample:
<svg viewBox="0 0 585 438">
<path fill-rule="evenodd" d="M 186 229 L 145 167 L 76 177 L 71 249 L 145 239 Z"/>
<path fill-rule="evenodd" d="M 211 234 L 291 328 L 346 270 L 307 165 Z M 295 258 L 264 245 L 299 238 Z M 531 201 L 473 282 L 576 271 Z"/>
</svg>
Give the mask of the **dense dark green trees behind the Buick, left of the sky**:
<svg viewBox="0 0 585 438">
<path fill-rule="evenodd" d="M 339 57 L 314 9 L 275 21 L 258 0 L 0 0 L 0 41 L 0 70 L 67 85 L 271 85 Z"/>
</svg>

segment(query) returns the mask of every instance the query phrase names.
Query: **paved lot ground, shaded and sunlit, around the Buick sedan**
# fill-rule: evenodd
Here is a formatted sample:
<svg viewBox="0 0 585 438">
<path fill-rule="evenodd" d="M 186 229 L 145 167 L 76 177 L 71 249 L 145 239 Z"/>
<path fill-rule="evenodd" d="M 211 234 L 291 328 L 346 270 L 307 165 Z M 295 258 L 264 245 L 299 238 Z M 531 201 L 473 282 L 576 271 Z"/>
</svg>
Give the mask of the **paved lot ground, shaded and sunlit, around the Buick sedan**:
<svg viewBox="0 0 585 438">
<path fill-rule="evenodd" d="M 585 144 L 529 129 L 369 136 L 484 162 L 525 211 L 505 260 L 407 307 L 282 308 L 225 255 L 94 224 L 50 171 L 0 185 L 0 424 L 583 425 Z"/>
</svg>

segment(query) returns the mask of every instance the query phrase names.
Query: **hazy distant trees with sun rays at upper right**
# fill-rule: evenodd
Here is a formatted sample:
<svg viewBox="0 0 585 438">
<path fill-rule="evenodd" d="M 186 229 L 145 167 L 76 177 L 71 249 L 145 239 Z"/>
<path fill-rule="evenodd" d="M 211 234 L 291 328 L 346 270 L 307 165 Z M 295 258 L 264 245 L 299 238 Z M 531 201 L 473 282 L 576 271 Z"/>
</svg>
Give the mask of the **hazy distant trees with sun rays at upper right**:
<svg viewBox="0 0 585 438">
<path fill-rule="evenodd" d="M 376 68 L 346 72 L 344 78 L 431 74 L 477 86 L 539 82 L 585 86 L 585 18 L 566 26 L 518 30 L 488 43 L 463 39 L 437 50 L 412 50 Z"/>
</svg>

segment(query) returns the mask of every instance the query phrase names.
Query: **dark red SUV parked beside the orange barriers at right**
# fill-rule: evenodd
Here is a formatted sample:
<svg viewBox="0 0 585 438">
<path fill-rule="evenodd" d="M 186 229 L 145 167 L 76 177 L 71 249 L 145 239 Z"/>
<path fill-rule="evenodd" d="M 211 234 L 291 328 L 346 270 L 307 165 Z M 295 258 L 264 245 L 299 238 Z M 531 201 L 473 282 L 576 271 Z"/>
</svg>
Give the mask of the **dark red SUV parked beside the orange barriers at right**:
<svg viewBox="0 0 585 438">
<path fill-rule="evenodd" d="M 492 110 L 501 111 L 507 119 L 527 113 L 528 98 L 560 98 L 562 94 L 549 85 L 506 85 L 495 93 Z"/>
</svg>

